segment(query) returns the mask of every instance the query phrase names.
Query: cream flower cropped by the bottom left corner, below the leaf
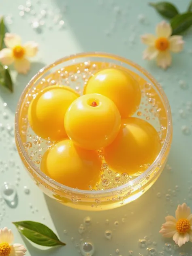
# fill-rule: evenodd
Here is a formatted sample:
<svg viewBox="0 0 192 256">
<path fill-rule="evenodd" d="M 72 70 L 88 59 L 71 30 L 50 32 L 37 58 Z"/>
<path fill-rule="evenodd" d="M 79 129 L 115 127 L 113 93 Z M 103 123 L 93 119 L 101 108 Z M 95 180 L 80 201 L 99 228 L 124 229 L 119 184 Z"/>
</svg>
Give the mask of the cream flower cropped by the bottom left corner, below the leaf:
<svg viewBox="0 0 192 256">
<path fill-rule="evenodd" d="M 0 256 L 23 256 L 26 253 L 26 248 L 19 244 L 13 243 L 13 233 L 8 228 L 0 229 Z"/>
</svg>

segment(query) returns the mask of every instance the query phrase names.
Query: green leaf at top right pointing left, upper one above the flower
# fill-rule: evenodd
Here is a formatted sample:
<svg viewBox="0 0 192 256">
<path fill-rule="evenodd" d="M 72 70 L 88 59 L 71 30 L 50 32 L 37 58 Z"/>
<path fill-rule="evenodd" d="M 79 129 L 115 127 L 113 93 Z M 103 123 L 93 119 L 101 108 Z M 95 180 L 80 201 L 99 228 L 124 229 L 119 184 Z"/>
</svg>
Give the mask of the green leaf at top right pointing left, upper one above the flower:
<svg viewBox="0 0 192 256">
<path fill-rule="evenodd" d="M 169 2 L 149 3 L 149 5 L 153 6 L 160 15 L 169 19 L 179 14 L 177 8 Z"/>
</svg>

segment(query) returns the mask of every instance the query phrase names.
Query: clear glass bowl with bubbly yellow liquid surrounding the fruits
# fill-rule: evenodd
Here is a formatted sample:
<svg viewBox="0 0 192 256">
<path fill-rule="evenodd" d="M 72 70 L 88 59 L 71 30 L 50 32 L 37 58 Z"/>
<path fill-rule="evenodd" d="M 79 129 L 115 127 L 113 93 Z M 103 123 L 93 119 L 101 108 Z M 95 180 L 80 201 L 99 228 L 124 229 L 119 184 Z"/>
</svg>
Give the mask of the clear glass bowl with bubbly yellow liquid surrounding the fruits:
<svg viewBox="0 0 192 256">
<path fill-rule="evenodd" d="M 92 73 L 108 67 L 127 70 L 137 79 L 142 91 L 141 105 L 135 114 L 150 122 L 161 138 L 162 148 L 156 160 L 132 180 L 122 182 L 115 188 L 100 190 L 79 190 L 70 188 L 47 177 L 38 167 L 41 159 L 34 159 L 29 137 L 27 111 L 30 100 L 40 89 L 56 83 L 70 85 L 76 91 L 81 88 Z M 23 90 L 15 114 L 15 139 L 19 156 L 37 186 L 48 196 L 60 203 L 83 210 L 99 211 L 125 205 L 146 192 L 158 179 L 170 151 L 172 141 L 171 109 L 168 99 L 158 82 L 143 68 L 117 55 L 90 52 L 61 58 L 39 70 Z M 34 144 L 38 144 L 34 140 Z M 50 141 L 45 144 L 49 146 Z M 40 150 L 40 149 L 39 149 Z M 38 155 L 41 156 L 41 155 Z"/>
</svg>

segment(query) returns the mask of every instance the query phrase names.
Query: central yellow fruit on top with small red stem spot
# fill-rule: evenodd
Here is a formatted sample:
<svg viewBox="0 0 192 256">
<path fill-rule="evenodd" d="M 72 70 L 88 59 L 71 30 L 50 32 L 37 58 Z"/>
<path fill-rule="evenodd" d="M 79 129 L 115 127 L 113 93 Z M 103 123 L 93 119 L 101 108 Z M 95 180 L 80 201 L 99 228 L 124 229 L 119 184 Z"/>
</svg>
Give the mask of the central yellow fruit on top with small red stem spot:
<svg viewBox="0 0 192 256">
<path fill-rule="evenodd" d="M 66 111 L 68 137 L 84 149 L 106 147 L 117 137 L 121 116 L 112 100 L 101 94 L 86 94 L 75 100 Z"/>
</svg>

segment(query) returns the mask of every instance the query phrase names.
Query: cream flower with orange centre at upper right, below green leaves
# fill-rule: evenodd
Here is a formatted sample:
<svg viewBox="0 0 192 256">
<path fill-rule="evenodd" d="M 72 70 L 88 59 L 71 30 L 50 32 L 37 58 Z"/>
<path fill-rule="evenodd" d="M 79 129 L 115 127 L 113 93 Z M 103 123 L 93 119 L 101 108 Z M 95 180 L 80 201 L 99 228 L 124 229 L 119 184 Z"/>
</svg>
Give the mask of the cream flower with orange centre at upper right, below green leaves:
<svg viewBox="0 0 192 256">
<path fill-rule="evenodd" d="M 165 21 L 156 26 L 156 34 L 145 34 L 141 41 L 149 47 L 143 52 L 143 59 L 152 60 L 156 58 L 157 65 L 166 69 L 171 65 L 171 53 L 178 53 L 183 50 L 183 37 L 171 36 L 172 28 Z"/>
</svg>

